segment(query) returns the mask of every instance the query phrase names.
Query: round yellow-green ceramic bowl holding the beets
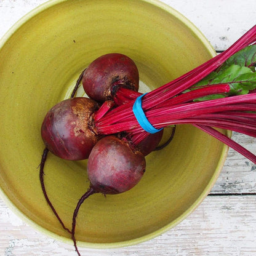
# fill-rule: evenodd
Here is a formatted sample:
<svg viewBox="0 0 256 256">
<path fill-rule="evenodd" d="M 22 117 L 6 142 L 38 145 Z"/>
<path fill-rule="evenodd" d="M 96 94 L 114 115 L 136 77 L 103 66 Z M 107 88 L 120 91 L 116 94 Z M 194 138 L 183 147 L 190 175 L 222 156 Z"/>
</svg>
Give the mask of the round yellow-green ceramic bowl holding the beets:
<svg viewBox="0 0 256 256">
<path fill-rule="evenodd" d="M 70 97 L 98 56 L 120 52 L 138 66 L 151 90 L 215 55 L 201 32 L 157 0 L 54 0 L 16 23 L 0 41 L 0 187 L 6 203 L 30 225 L 70 242 L 42 194 L 42 119 Z M 145 86 L 146 85 L 146 86 Z M 192 126 L 146 158 L 142 181 L 123 194 L 95 194 L 82 205 L 79 246 L 122 247 L 154 238 L 188 216 L 209 193 L 227 146 Z M 87 190 L 86 161 L 49 154 L 46 190 L 66 226 Z"/>
</svg>

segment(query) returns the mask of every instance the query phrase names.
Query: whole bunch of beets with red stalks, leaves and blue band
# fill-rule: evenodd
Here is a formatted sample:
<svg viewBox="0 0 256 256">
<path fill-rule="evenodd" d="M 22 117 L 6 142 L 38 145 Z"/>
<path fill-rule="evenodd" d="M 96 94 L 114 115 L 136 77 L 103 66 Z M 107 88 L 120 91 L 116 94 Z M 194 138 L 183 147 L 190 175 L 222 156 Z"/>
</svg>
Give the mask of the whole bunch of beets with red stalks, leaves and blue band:
<svg viewBox="0 0 256 256">
<path fill-rule="evenodd" d="M 256 156 L 218 129 L 256 137 L 256 25 L 206 63 L 158 89 L 138 92 L 134 61 L 123 54 L 102 55 L 82 72 L 71 98 L 46 114 L 41 136 L 40 179 L 44 196 L 63 228 L 74 237 L 82 202 L 94 193 L 118 194 L 142 178 L 145 156 L 158 149 L 163 128 L 191 124 L 222 141 L 256 164 Z M 88 97 L 75 97 L 82 87 Z M 171 138 L 173 137 L 172 134 Z M 88 159 L 89 189 L 79 199 L 68 230 L 44 186 L 47 153 L 77 161 Z"/>
</svg>

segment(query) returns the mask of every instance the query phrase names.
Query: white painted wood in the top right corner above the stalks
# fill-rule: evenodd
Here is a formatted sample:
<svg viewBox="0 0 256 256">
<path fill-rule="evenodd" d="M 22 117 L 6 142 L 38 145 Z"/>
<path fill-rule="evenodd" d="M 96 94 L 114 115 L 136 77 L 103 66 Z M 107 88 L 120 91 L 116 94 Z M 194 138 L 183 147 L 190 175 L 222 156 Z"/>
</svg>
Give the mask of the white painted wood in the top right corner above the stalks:
<svg viewBox="0 0 256 256">
<path fill-rule="evenodd" d="M 162 0 L 194 23 L 217 50 L 225 50 L 256 23 L 255 0 Z"/>
</svg>

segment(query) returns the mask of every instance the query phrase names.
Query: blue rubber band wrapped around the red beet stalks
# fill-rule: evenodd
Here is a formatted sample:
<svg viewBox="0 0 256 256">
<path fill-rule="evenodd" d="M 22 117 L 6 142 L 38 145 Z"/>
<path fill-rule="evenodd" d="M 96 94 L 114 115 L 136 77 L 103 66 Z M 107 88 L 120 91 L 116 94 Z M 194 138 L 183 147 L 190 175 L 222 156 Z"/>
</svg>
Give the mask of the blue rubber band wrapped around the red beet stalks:
<svg viewBox="0 0 256 256">
<path fill-rule="evenodd" d="M 146 131 L 149 132 L 150 134 L 155 134 L 156 132 L 159 132 L 161 129 L 156 129 L 150 122 L 148 121 L 148 118 L 146 118 L 146 115 L 142 109 L 142 97 L 144 96 L 140 95 L 135 102 L 134 106 L 132 107 L 132 111 L 134 111 L 135 118 L 137 119 L 138 123 L 140 126 Z"/>
</svg>

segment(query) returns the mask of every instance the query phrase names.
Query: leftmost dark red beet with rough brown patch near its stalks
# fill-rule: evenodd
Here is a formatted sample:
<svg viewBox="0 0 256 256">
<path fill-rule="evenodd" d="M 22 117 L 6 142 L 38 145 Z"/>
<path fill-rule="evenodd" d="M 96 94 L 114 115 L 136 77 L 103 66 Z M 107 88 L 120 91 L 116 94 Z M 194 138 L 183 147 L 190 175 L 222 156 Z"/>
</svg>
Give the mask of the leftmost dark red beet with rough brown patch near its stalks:
<svg viewBox="0 0 256 256">
<path fill-rule="evenodd" d="M 69 98 L 46 114 L 41 136 L 49 151 L 66 160 L 89 157 L 100 137 L 90 130 L 90 116 L 99 106 L 90 98 Z"/>
</svg>

